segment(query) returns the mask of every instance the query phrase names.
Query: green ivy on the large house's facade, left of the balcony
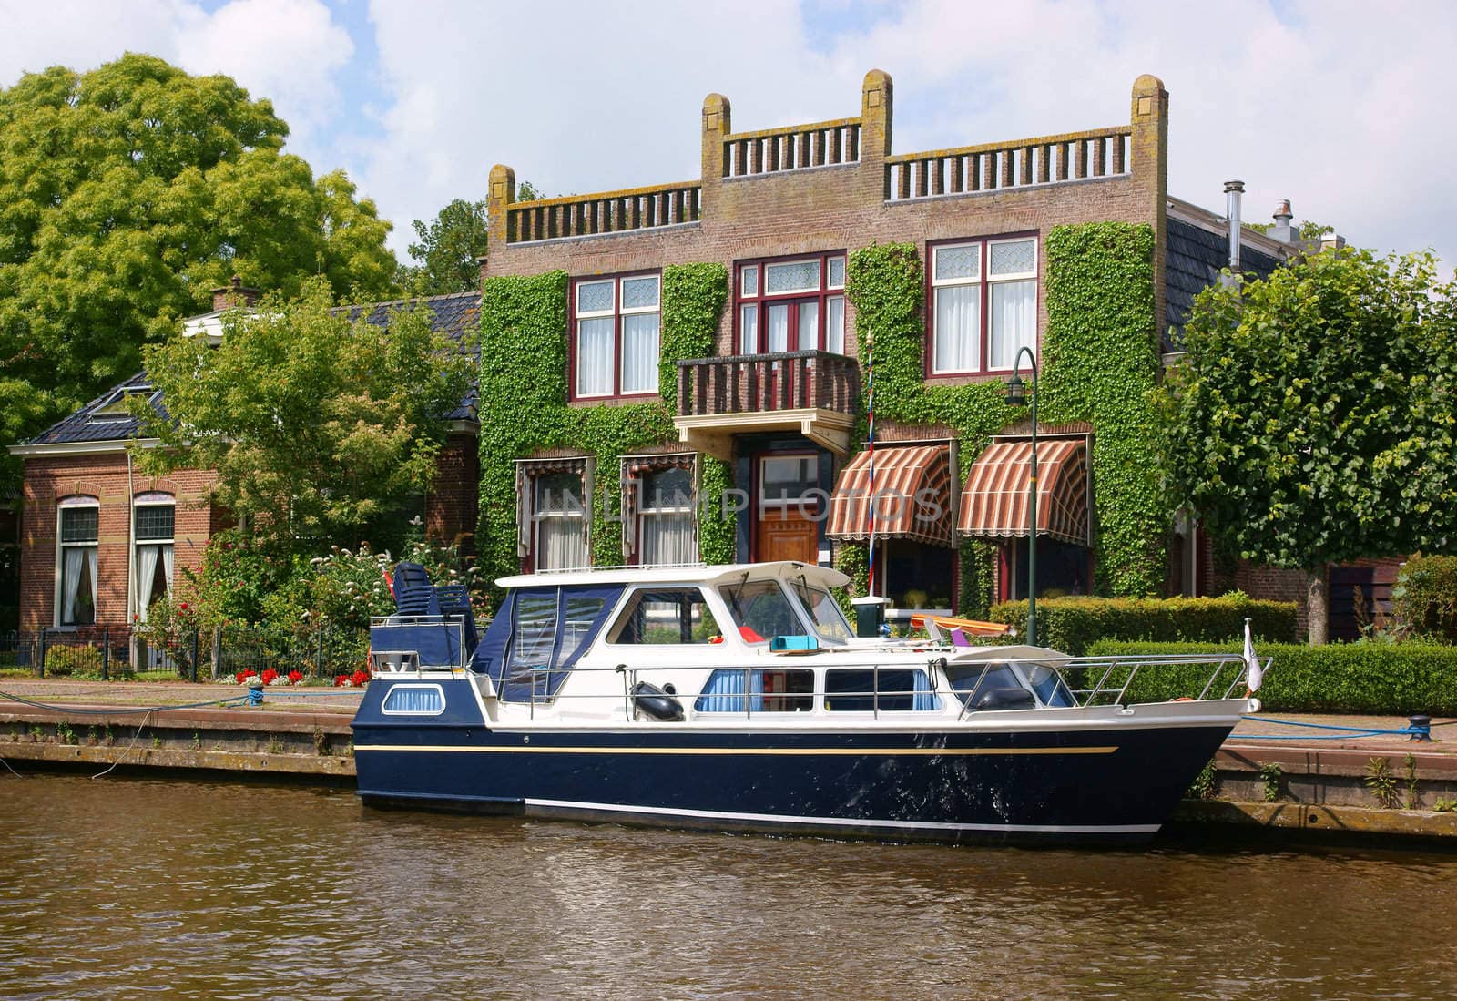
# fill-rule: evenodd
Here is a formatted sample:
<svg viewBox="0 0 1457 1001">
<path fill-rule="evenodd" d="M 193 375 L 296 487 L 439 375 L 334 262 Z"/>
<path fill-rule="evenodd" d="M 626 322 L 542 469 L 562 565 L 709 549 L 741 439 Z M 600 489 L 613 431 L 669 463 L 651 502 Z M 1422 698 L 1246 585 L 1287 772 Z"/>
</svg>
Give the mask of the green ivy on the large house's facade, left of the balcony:
<svg viewBox="0 0 1457 1001">
<path fill-rule="evenodd" d="M 481 288 L 481 526 L 479 565 L 491 580 L 516 573 L 516 459 L 543 449 L 573 447 L 596 458 L 592 501 L 592 560 L 622 562 L 618 511 L 621 458 L 670 441 L 678 358 L 712 354 L 728 296 L 720 264 L 663 268 L 661 401 L 615 407 L 567 405 L 567 272 L 487 278 Z M 727 463 L 704 456 L 705 495 L 733 485 Z M 699 545 L 705 560 L 733 560 L 733 519 L 704 511 Z"/>
</svg>

